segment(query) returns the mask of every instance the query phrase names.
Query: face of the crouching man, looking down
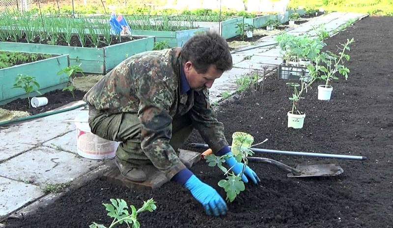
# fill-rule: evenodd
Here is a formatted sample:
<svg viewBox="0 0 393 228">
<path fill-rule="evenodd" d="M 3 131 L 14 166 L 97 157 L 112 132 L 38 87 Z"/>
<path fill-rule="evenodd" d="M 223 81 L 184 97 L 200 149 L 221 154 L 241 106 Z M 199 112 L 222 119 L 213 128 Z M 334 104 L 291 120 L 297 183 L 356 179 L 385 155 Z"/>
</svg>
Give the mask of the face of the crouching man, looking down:
<svg viewBox="0 0 393 228">
<path fill-rule="evenodd" d="M 198 74 L 191 61 L 184 64 L 184 73 L 186 74 L 186 78 L 191 89 L 196 91 L 199 91 L 204 87 L 211 88 L 214 80 L 220 78 L 223 74 L 221 70 L 216 69 L 215 65 L 210 65 L 206 73 Z"/>
</svg>

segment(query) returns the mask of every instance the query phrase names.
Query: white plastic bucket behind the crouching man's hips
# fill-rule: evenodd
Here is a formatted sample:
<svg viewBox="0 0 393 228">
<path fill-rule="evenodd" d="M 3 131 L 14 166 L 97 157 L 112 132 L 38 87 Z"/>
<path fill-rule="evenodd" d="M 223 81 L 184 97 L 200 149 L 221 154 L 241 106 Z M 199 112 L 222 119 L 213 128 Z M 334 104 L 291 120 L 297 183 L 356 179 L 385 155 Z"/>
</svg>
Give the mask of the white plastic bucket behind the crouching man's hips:
<svg viewBox="0 0 393 228">
<path fill-rule="evenodd" d="M 78 114 L 75 118 L 78 154 L 89 159 L 113 158 L 119 143 L 92 134 L 87 120 L 88 111 Z"/>
</svg>

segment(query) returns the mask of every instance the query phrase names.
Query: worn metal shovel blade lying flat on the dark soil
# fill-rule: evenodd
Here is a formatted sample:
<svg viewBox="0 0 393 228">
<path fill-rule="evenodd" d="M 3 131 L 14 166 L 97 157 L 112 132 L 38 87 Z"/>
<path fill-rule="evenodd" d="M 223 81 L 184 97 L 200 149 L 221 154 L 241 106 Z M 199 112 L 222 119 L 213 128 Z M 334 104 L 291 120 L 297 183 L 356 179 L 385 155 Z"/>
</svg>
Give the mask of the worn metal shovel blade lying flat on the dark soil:
<svg viewBox="0 0 393 228">
<path fill-rule="evenodd" d="M 337 176 L 344 171 L 337 164 L 322 164 L 322 165 L 298 165 L 296 169 L 301 171 L 300 174 L 288 173 L 288 177 L 309 177 L 309 176 Z"/>
</svg>

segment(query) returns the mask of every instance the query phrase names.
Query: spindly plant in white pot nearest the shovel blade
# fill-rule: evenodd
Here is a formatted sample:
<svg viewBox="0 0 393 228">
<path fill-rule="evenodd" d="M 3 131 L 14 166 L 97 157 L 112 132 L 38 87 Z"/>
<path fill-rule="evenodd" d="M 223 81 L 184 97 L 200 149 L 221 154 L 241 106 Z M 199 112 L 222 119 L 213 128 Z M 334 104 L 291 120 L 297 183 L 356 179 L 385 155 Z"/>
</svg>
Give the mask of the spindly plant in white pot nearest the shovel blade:
<svg viewBox="0 0 393 228">
<path fill-rule="evenodd" d="M 292 109 L 287 113 L 288 116 L 288 127 L 295 129 L 303 128 L 304 119 L 306 114 L 299 110 L 299 103 L 304 91 L 307 92 L 309 78 L 301 77 L 299 83 L 286 83 L 286 85 L 293 88 L 292 97 L 289 100 L 292 101 Z"/>
</svg>

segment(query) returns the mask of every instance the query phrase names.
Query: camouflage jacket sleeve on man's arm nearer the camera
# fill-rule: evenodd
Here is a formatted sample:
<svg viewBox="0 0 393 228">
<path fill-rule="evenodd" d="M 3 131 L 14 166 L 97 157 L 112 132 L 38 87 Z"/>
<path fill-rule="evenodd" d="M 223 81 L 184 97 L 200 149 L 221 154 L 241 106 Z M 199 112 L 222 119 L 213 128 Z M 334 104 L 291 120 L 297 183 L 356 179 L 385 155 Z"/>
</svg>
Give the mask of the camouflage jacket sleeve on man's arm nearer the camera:
<svg viewBox="0 0 393 228">
<path fill-rule="evenodd" d="M 135 92 L 140 98 L 140 145 L 153 165 L 164 172 L 170 180 L 177 172 L 186 168 L 169 144 L 172 134 L 172 117 L 169 110 L 175 99 L 177 85 L 165 76 L 169 72 L 162 71 L 158 59 L 151 64 L 153 67 L 142 66 L 135 69 L 140 71 L 135 72 L 135 75 L 140 77 L 134 83 Z M 145 69 L 150 71 L 146 72 Z"/>
</svg>

